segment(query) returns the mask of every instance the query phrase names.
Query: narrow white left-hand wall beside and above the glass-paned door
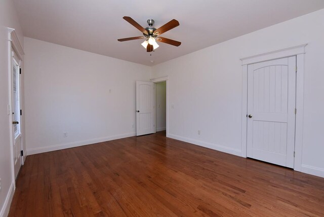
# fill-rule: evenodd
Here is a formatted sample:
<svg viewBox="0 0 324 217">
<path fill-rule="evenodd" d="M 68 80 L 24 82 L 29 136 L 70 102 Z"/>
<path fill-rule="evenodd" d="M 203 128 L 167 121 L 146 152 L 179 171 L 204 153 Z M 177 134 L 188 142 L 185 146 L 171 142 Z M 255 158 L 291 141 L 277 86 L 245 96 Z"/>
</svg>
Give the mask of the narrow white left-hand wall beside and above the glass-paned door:
<svg viewBox="0 0 324 217">
<path fill-rule="evenodd" d="M 13 194 L 12 154 L 10 151 L 9 82 L 8 82 L 8 27 L 15 28 L 20 43 L 23 43 L 22 30 L 17 18 L 13 1 L 1 1 L 0 7 L 0 216 L 7 216 Z"/>
</svg>

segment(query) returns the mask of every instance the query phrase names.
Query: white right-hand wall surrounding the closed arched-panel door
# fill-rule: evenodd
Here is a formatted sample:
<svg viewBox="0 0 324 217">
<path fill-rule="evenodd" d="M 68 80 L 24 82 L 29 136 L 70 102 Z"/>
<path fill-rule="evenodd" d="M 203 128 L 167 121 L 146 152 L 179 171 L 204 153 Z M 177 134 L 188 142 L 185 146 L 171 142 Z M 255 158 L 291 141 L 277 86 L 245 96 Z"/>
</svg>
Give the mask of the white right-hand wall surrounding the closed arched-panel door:
<svg viewBox="0 0 324 217">
<path fill-rule="evenodd" d="M 153 66 L 152 78 L 169 77 L 169 137 L 240 156 L 240 58 L 308 43 L 302 171 L 324 177 L 323 20 L 320 10 Z"/>
</svg>

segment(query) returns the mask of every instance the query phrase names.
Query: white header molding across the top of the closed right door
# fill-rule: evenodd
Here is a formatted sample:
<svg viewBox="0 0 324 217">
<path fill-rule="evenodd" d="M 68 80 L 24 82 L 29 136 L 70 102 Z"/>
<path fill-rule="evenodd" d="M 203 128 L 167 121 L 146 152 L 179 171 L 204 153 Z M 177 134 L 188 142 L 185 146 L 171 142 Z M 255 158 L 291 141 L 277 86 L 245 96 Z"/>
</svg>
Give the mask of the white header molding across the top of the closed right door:
<svg viewBox="0 0 324 217">
<path fill-rule="evenodd" d="M 271 59 L 278 59 L 283 57 L 295 56 L 298 54 L 304 54 L 306 45 L 307 44 L 303 44 L 303 45 L 284 48 L 276 51 L 270 51 L 263 54 L 240 58 L 240 60 L 242 60 L 242 65 L 247 65 L 256 62 L 268 61 Z"/>
</svg>

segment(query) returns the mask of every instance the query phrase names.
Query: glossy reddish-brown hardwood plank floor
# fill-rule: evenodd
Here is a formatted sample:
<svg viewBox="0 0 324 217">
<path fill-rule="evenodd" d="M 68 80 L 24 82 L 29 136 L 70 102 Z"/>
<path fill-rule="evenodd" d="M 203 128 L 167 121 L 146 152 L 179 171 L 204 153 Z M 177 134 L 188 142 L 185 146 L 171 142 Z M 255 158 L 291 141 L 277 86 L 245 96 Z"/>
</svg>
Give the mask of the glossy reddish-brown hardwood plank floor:
<svg viewBox="0 0 324 217">
<path fill-rule="evenodd" d="M 324 178 L 156 134 L 28 156 L 9 216 L 324 216 Z"/>
</svg>

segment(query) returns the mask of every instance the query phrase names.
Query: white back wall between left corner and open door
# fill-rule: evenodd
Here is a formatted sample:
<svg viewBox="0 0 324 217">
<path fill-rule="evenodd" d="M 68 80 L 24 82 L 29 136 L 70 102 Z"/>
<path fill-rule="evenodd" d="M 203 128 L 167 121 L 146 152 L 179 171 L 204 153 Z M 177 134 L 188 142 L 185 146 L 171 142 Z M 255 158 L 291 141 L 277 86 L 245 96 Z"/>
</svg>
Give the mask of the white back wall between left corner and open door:
<svg viewBox="0 0 324 217">
<path fill-rule="evenodd" d="M 28 155 L 135 135 L 149 66 L 30 38 L 24 51 Z"/>
</svg>

